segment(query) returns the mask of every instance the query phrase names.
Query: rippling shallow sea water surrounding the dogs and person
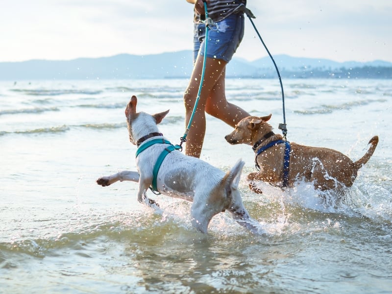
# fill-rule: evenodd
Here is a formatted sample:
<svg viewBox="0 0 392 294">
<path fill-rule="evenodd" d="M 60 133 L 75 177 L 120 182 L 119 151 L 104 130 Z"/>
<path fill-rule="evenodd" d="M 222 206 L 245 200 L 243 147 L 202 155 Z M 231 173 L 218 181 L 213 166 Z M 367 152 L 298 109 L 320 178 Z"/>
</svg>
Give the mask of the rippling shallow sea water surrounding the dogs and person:
<svg viewBox="0 0 392 294">
<path fill-rule="evenodd" d="M 245 160 L 244 204 L 252 235 L 221 213 L 208 234 L 191 225 L 190 203 L 137 201 L 137 184 L 96 179 L 136 170 L 124 109 L 170 109 L 160 131 L 179 144 L 187 79 L 0 82 L 0 293 L 390 293 L 392 291 L 391 80 L 284 80 L 288 140 L 337 149 L 353 160 L 380 142 L 341 201 L 310 184 L 261 184 L 250 146 L 230 146 L 231 127 L 207 117 L 201 158 L 226 171 Z M 227 79 L 227 99 L 272 114 L 277 80 Z"/>
</svg>

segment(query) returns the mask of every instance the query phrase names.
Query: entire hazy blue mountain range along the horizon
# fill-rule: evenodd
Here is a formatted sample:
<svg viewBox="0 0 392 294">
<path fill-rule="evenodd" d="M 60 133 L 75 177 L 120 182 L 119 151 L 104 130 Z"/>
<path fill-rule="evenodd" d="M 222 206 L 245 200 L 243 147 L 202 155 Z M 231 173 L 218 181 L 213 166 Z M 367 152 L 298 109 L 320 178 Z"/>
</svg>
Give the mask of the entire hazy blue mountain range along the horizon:
<svg viewBox="0 0 392 294">
<path fill-rule="evenodd" d="M 392 63 L 336 62 L 327 59 L 276 55 L 274 60 L 282 77 L 287 78 L 392 78 Z M 192 51 L 184 50 L 151 55 L 119 54 L 101 58 L 73 60 L 29 60 L 0 62 L 0 80 L 34 79 L 128 79 L 183 78 L 192 73 Z M 249 62 L 233 58 L 227 66 L 228 77 L 276 77 L 269 56 Z"/>
</svg>

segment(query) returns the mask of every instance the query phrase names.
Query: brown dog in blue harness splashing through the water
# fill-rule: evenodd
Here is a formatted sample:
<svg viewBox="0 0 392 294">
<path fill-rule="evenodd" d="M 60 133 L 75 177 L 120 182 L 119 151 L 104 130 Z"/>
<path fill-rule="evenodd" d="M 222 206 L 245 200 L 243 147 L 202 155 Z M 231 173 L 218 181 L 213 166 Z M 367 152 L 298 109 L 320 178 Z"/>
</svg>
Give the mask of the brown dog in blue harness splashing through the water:
<svg viewBox="0 0 392 294">
<path fill-rule="evenodd" d="M 247 179 L 250 189 L 257 193 L 261 191 L 256 187 L 255 181 L 260 180 L 274 186 L 293 187 L 295 181 L 304 179 L 313 182 L 314 187 L 321 191 L 341 191 L 344 187 L 351 187 L 358 170 L 368 162 L 378 143 L 378 136 L 371 138 L 368 143 L 371 144 L 370 148 L 356 162 L 333 149 L 296 143 L 289 144 L 291 150 L 286 150 L 285 158 L 286 144 L 282 135 L 272 132 L 272 126 L 267 123 L 270 118 L 271 115 L 249 116 L 241 120 L 234 131 L 225 136 L 226 141 L 232 145 L 253 146 L 256 167 L 259 167 L 260 171 L 249 173 Z M 265 149 L 268 145 L 270 147 Z M 288 167 L 284 166 L 284 160 L 287 161 Z M 288 172 L 285 173 L 284 168 L 288 168 Z"/>
</svg>

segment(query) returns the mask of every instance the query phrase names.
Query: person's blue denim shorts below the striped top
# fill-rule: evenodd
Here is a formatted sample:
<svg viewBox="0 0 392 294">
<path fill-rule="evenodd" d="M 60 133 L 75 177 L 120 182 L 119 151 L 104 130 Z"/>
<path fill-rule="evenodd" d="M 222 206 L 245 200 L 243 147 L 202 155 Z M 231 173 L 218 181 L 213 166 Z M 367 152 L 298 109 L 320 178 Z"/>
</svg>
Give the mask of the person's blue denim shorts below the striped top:
<svg viewBox="0 0 392 294">
<path fill-rule="evenodd" d="M 244 15 L 232 14 L 216 23 L 217 30 L 208 29 L 207 57 L 229 62 L 244 37 Z M 213 28 L 215 28 L 213 26 Z M 194 62 L 197 54 L 204 55 L 205 24 L 194 25 Z"/>
</svg>

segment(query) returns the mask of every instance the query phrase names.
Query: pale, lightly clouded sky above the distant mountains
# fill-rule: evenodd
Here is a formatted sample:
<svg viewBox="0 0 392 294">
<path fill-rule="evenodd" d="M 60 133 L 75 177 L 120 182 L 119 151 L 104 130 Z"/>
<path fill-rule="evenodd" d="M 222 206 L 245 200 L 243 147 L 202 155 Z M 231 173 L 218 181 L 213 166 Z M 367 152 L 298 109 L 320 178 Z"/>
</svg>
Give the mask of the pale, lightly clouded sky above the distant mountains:
<svg viewBox="0 0 392 294">
<path fill-rule="evenodd" d="M 0 62 L 191 50 L 186 0 L 0 0 Z M 248 0 L 272 55 L 392 62 L 391 0 Z M 235 57 L 268 53 L 251 23 Z"/>
</svg>

